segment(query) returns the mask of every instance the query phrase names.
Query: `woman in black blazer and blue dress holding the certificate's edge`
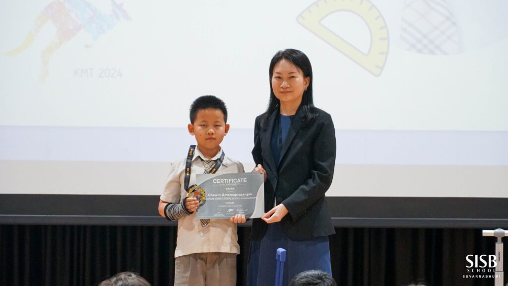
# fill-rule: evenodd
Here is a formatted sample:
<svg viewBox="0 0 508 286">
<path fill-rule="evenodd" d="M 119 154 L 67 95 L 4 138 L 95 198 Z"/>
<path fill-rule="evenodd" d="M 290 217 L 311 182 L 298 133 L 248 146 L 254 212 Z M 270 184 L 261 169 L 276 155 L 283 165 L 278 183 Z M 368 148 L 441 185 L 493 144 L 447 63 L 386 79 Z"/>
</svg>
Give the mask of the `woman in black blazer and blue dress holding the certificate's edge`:
<svg viewBox="0 0 508 286">
<path fill-rule="evenodd" d="M 247 284 L 271 285 L 275 253 L 287 250 L 284 281 L 305 270 L 330 275 L 328 236 L 334 234 L 325 201 L 335 166 L 332 118 L 312 103 L 312 68 L 295 49 L 270 63 L 270 102 L 256 118 L 254 171 L 265 177 L 265 211 L 252 222 Z"/>
</svg>

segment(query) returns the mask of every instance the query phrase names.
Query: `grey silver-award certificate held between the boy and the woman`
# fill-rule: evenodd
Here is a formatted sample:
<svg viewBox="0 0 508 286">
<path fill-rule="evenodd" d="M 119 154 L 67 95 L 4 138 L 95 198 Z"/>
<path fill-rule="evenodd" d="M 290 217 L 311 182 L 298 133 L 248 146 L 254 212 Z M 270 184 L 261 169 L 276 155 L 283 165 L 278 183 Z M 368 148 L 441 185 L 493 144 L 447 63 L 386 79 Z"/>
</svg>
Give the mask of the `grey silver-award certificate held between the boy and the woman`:
<svg viewBox="0 0 508 286">
<path fill-rule="evenodd" d="M 243 214 L 245 218 L 265 214 L 263 175 L 259 173 L 197 174 L 196 184 L 204 199 L 197 210 L 197 218 L 231 218 Z"/>
</svg>

